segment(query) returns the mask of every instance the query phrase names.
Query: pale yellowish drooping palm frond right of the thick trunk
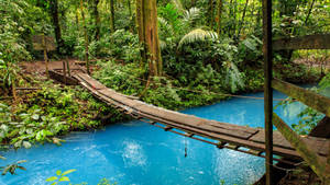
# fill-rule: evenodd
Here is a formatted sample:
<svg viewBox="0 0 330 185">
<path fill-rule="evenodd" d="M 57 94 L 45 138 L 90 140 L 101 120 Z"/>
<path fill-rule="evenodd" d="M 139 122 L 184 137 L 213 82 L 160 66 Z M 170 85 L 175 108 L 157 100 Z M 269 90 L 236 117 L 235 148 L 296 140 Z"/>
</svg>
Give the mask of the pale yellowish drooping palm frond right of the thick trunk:
<svg viewBox="0 0 330 185">
<path fill-rule="evenodd" d="M 180 48 L 185 44 L 190 44 L 195 42 L 204 42 L 207 39 L 217 39 L 218 34 L 213 31 L 205 31 L 201 28 L 195 28 L 188 34 L 186 34 L 179 42 L 178 48 Z"/>
</svg>

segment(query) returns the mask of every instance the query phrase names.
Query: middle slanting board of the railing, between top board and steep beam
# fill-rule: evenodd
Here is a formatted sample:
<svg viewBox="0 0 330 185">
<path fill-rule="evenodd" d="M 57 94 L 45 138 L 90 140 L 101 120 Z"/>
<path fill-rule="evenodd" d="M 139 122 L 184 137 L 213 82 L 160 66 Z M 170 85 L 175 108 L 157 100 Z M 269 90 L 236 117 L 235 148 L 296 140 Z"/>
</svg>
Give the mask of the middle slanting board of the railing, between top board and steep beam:
<svg viewBox="0 0 330 185">
<path fill-rule="evenodd" d="M 294 97 L 307 106 L 315 108 L 330 117 L 330 99 L 312 91 L 305 90 L 278 79 L 273 80 L 273 88 Z"/>
</svg>

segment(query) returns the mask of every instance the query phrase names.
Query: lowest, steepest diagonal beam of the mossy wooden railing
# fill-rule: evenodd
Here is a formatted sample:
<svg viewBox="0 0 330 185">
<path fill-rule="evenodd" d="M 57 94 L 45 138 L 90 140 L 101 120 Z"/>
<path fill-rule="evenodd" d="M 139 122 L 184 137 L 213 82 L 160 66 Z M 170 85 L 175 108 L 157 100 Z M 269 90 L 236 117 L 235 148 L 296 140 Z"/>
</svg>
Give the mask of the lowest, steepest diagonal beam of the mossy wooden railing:
<svg viewBox="0 0 330 185">
<path fill-rule="evenodd" d="M 309 164 L 312 171 L 324 181 L 327 167 L 324 161 L 316 154 L 310 147 L 292 128 L 280 119 L 277 114 L 273 114 L 273 124 L 280 131 L 287 141 L 297 150 L 300 157 Z"/>
</svg>

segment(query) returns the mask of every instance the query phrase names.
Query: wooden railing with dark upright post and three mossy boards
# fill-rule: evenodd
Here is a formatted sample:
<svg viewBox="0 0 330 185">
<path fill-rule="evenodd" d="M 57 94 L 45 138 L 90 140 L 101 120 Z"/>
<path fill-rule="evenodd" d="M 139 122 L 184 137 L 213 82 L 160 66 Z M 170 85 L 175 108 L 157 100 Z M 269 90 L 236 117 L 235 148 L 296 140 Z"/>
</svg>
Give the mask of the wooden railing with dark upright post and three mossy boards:
<svg viewBox="0 0 330 185">
<path fill-rule="evenodd" d="M 265 76 L 265 140 L 266 140 L 266 184 L 273 184 L 273 125 L 290 142 L 314 172 L 330 184 L 330 151 L 327 161 L 322 160 L 311 146 L 301 140 L 278 115 L 273 112 L 273 89 L 298 100 L 305 105 L 330 117 L 330 99 L 316 92 L 301 89 L 288 82 L 273 79 L 273 49 L 330 49 L 330 34 L 307 35 L 273 41 L 272 37 L 272 0 L 263 0 L 263 53 Z M 330 148 L 330 147 L 329 147 Z"/>
</svg>

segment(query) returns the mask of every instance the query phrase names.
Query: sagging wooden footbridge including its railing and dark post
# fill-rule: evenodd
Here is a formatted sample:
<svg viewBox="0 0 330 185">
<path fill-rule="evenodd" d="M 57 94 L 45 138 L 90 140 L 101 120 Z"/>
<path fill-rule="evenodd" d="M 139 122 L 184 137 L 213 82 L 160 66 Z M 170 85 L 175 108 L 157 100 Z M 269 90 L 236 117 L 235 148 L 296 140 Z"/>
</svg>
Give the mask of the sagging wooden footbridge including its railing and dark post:
<svg viewBox="0 0 330 185">
<path fill-rule="evenodd" d="M 330 140 L 298 136 L 280 117 L 273 112 L 273 89 L 323 113 L 330 119 L 330 99 L 312 91 L 304 90 L 294 84 L 273 78 L 273 50 L 285 49 L 330 49 L 330 34 L 306 35 L 295 38 L 282 38 L 273 42 L 272 34 L 272 0 L 262 0 L 263 4 L 263 55 L 264 55 L 264 104 L 265 129 L 238 126 L 233 124 L 208 120 L 186 115 L 154 105 L 146 104 L 135 97 L 108 89 L 84 72 L 66 77 L 56 71 L 50 71 L 52 78 L 65 83 L 80 84 L 97 99 L 121 109 L 132 117 L 150 123 L 165 131 L 197 139 L 240 152 L 265 158 L 267 185 L 275 184 L 273 161 L 292 164 L 294 160 L 304 160 L 320 177 L 323 184 L 330 184 Z M 69 71 L 69 70 L 68 70 Z M 327 125 L 328 124 L 328 125 Z M 278 131 L 273 131 L 276 126 Z M 329 135 L 329 123 L 319 124 L 318 130 L 326 129 Z M 273 158 L 273 154 L 284 158 Z M 285 160 L 284 160 L 285 159 Z"/>
</svg>

